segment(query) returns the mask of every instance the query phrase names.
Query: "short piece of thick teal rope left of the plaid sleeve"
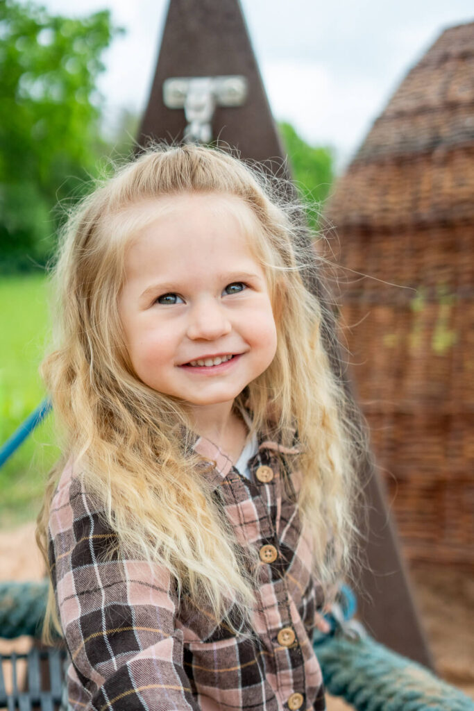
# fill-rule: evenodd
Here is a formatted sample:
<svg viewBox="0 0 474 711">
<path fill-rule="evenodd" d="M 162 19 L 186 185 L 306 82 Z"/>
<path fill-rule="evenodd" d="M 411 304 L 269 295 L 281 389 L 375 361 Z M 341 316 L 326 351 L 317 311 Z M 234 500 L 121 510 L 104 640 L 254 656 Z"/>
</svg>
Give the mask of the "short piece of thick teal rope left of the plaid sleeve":
<svg viewBox="0 0 474 711">
<path fill-rule="evenodd" d="M 0 637 L 40 637 L 47 597 L 47 582 L 1 582 Z"/>
</svg>

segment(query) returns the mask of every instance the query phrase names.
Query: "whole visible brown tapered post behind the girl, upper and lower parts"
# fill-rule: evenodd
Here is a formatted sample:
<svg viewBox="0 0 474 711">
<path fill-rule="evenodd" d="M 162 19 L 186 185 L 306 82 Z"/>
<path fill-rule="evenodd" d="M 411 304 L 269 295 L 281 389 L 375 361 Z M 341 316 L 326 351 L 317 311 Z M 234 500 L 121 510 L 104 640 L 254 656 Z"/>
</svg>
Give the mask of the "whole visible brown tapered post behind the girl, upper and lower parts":
<svg viewBox="0 0 474 711">
<path fill-rule="evenodd" d="M 237 148 L 244 159 L 267 163 L 271 160 L 274 169 L 281 165 L 284 151 L 237 0 L 171 0 L 139 145 L 146 145 L 149 139 L 183 138 L 184 111 L 167 109 L 163 104 L 166 79 L 234 74 L 247 77 L 247 102 L 239 108 L 217 107 L 212 122 L 213 138 Z M 323 294 L 321 284 L 313 283 L 311 289 Z M 335 324 L 328 322 L 325 327 L 330 330 Z M 340 354 L 330 345 L 331 339 L 326 341 L 333 368 L 340 373 L 343 370 L 339 365 Z M 347 380 L 345 387 L 349 392 Z M 432 667 L 382 485 L 370 462 L 365 462 L 364 470 L 361 477 L 367 481 L 369 526 L 365 530 L 361 523 L 361 528 L 367 540 L 365 557 L 372 572 L 365 570 L 362 574 L 362 619 L 377 640 Z"/>
</svg>

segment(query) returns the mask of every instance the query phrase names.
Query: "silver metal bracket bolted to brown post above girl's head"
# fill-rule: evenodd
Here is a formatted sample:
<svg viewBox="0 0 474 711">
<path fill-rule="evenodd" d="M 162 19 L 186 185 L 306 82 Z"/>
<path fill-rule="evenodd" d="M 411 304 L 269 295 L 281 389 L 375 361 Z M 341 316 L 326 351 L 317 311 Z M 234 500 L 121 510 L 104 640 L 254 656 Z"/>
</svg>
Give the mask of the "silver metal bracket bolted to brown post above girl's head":
<svg viewBox="0 0 474 711">
<path fill-rule="evenodd" d="M 163 103 L 168 109 L 184 109 L 187 143 L 209 143 L 216 106 L 242 106 L 247 98 L 247 79 L 223 77 L 174 77 L 163 82 Z"/>
</svg>

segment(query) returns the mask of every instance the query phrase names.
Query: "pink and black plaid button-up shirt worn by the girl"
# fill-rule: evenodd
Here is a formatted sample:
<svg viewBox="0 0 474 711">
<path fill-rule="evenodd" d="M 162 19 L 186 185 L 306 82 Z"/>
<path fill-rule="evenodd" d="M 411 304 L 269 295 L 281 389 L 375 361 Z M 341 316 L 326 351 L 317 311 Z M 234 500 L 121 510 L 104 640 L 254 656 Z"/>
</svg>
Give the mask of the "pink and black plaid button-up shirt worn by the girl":
<svg viewBox="0 0 474 711">
<path fill-rule="evenodd" d="M 276 454 L 298 450 L 259 437 L 249 481 L 208 440 L 196 438 L 194 448 L 216 462 L 209 476 L 237 540 L 278 553 L 259 568 L 252 638 L 236 637 L 186 599 L 178 611 L 162 567 L 107 556 L 114 534 L 69 465 L 50 513 L 50 565 L 72 662 L 70 707 L 323 711 L 311 644 L 321 588 L 311 577 L 311 550 Z M 271 481 L 259 481 L 259 466 L 271 467 Z M 298 488 L 295 481 L 291 486 Z"/>
</svg>

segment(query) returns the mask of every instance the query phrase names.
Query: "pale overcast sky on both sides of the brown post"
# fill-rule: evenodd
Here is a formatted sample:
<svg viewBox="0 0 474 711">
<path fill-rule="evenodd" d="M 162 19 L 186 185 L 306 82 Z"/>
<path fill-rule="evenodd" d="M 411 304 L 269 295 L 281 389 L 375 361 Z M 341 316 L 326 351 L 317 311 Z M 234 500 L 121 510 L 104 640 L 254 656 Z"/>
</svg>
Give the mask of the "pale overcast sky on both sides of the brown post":
<svg viewBox="0 0 474 711">
<path fill-rule="evenodd" d="M 196 3 L 199 0 L 195 0 Z M 112 10 L 126 28 L 104 60 L 99 88 L 112 121 L 144 109 L 168 0 L 43 0 L 49 11 Z M 276 119 L 342 167 L 406 72 L 444 28 L 474 20 L 473 0 L 241 0 Z"/>
</svg>

